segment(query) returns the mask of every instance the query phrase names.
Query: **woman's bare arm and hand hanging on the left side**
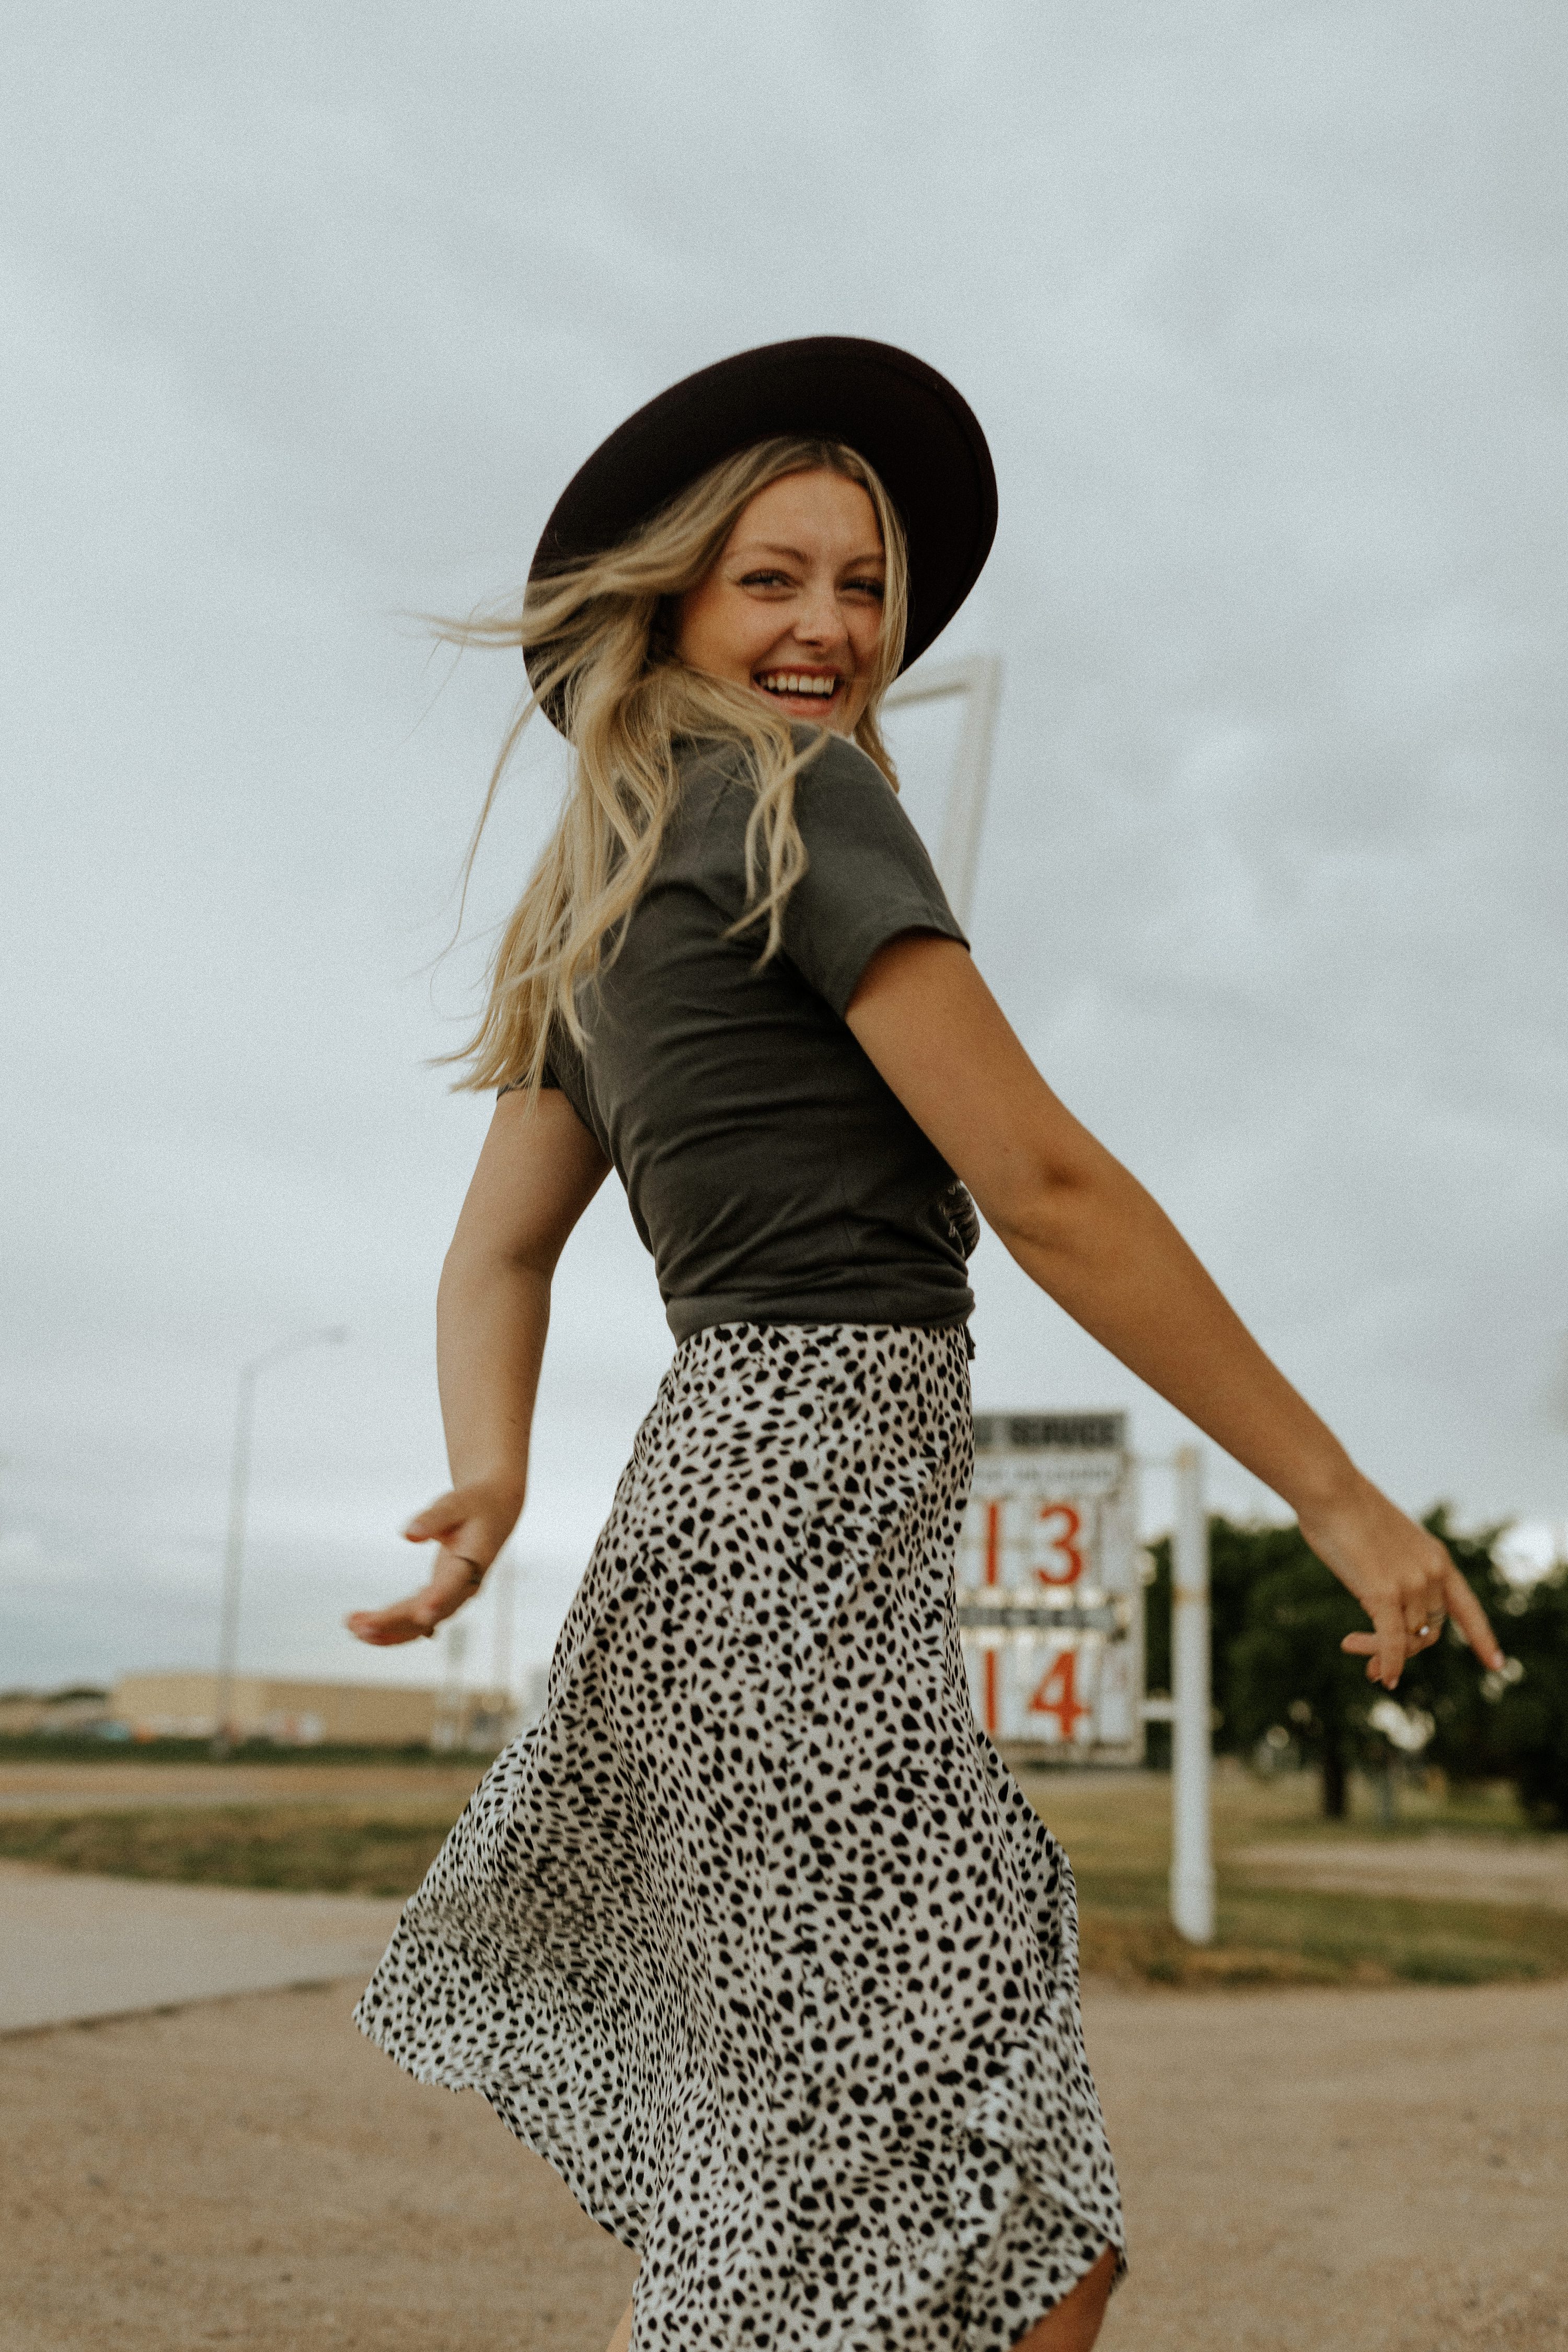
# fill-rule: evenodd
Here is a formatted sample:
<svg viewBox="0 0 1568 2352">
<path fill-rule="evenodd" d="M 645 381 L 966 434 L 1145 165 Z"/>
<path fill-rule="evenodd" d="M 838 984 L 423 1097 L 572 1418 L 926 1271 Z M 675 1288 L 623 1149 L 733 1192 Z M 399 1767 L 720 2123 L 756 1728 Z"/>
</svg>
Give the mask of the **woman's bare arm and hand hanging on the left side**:
<svg viewBox="0 0 1568 2352">
<path fill-rule="evenodd" d="M 437 1374 L 451 1489 L 409 1519 L 440 1543 L 421 1592 L 360 1609 L 348 1630 L 388 1646 L 433 1635 L 480 1590 L 522 1510 L 550 1277 L 609 1162 L 564 1094 L 503 1094 L 437 1291 Z"/>
</svg>

